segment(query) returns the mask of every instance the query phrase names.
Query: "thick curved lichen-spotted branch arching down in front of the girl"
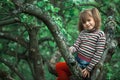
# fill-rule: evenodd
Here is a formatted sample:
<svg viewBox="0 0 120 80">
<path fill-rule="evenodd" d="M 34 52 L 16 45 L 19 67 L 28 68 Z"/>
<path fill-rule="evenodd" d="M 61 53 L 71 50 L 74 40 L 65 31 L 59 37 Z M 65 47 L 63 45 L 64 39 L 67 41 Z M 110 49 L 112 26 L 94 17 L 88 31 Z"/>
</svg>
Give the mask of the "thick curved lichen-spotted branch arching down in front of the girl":
<svg viewBox="0 0 120 80">
<path fill-rule="evenodd" d="M 36 6 L 32 4 L 27 4 L 24 9 L 22 9 L 24 13 L 33 15 L 37 17 L 38 19 L 42 20 L 50 30 L 51 34 L 53 35 L 57 46 L 61 52 L 61 55 L 65 59 L 66 63 L 68 64 L 71 72 L 73 75 L 77 77 L 77 79 L 81 80 L 81 69 L 78 67 L 78 64 L 75 62 L 72 55 L 70 55 L 70 52 L 68 51 L 68 47 L 65 43 L 65 39 L 63 35 L 61 34 L 60 30 L 58 29 L 58 26 L 52 21 L 52 19 L 42 12 L 40 8 L 37 8 Z M 71 65 L 71 63 L 75 63 L 74 65 Z"/>
</svg>

